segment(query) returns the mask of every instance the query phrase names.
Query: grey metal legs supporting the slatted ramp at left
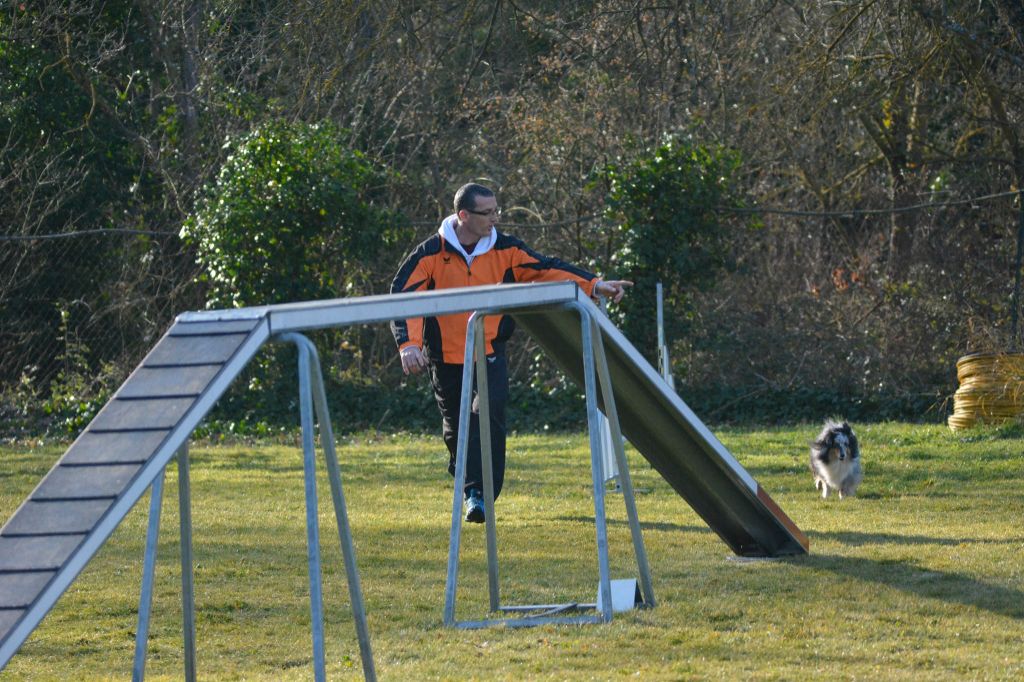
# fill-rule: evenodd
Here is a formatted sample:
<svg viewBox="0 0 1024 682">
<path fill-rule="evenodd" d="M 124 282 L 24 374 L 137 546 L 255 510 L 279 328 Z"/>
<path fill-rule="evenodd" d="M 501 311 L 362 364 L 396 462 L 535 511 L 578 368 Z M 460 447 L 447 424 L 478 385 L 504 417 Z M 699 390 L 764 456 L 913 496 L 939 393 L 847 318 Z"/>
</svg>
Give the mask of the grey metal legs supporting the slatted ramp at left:
<svg viewBox="0 0 1024 682">
<path fill-rule="evenodd" d="M 367 680 L 376 680 L 373 651 L 370 646 L 370 630 L 367 625 L 362 589 L 355 565 L 355 547 L 348 524 L 345 498 L 341 486 L 341 469 L 334 444 L 334 431 L 328 412 L 327 393 L 321 373 L 319 357 L 315 346 L 305 336 L 287 333 L 275 337 L 276 341 L 294 343 L 299 355 L 299 409 L 302 423 L 302 452 L 306 498 L 306 547 L 309 563 L 309 610 L 312 629 L 313 675 L 317 682 L 327 679 L 324 651 L 324 595 L 322 587 L 319 521 L 317 514 L 316 468 L 314 441 L 316 431 L 313 426 L 313 410 L 321 436 L 321 447 L 327 463 L 328 479 L 331 483 L 331 498 L 338 524 L 338 539 L 348 578 L 348 593 L 352 616 L 359 640 L 359 654 L 362 658 L 362 674 Z M 178 497 L 181 518 L 181 598 L 184 620 L 184 679 L 196 679 L 196 600 L 193 588 L 191 558 L 191 503 L 188 484 L 188 452 L 182 447 L 177 454 Z M 157 540 L 160 535 L 160 513 L 163 501 L 164 471 L 154 480 L 150 499 L 150 523 L 145 539 L 145 559 L 142 568 L 142 586 L 139 594 L 138 628 L 135 633 L 135 658 L 132 679 L 136 682 L 145 674 L 145 654 L 150 632 L 150 617 L 153 605 L 153 583 L 157 562 Z"/>
</svg>

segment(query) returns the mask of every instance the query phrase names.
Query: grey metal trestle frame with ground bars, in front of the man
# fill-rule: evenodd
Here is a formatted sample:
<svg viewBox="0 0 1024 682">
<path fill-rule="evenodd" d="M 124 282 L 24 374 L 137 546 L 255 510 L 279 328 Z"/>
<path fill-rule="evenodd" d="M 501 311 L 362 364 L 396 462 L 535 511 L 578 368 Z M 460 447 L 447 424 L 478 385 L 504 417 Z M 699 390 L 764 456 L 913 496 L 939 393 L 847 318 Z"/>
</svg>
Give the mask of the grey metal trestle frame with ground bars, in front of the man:
<svg viewBox="0 0 1024 682">
<path fill-rule="evenodd" d="M 611 579 L 608 568 L 608 534 L 607 517 L 604 508 L 604 465 L 602 463 L 602 435 L 600 412 L 597 406 L 597 386 L 600 381 L 603 412 L 611 429 L 611 442 L 614 447 L 614 459 L 618 468 L 618 482 L 622 486 L 623 500 L 626 503 L 626 513 L 629 517 L 630 531 L 633 537 L 633 548 L 636 554 L 637 568 L 640 573 L 643 603 L 654 605 L 654 592 L 651 587 L 650 568 L 647 563 L 647 552 L 644 549 L 643 537 L 640 531 L 640 520 L 636 511 L 636 498 L 633 481 L 630 477 L 623 447 L 622 430 L 615 411 L 614 395 L 611 390 L 611 377 L 608 372 L 604 344 L 596 322 L 591 318 L 586 308 L 577 304 L 568 304 L 580 313 L 583 334 L 584 379 L 587 394 L 587 423 L 590 435 L 591 475 L 593 479 L 594 520 L 597 532 L 597 562 L 601 596 L 601 609 L 597 604 L 569 602 L 565 604 L 531 604 L 521 606 L 503 606 L 500 599 L 498 579 L 498 539 L 495 522 L 494 473 L 492 471 L 490 453 L 490 411 L 487 390 L 486 344 L 483 335 L 485 310 L 474 312 L 470 317 L 466 332 L 466 354 L 463 365 L 462 396 L 460 404 L 458 446 L 456 451 L 455 489 L 452 501 L 452 532 L 449 543 L 447 581 L 444 591 L 444 625 L 460 629 L 486 628 L 490 626 L 506 626 L 512 628 L 532 627 L 548 624 L 589 624 L 608 623 L 611 621 Z M 469 416 L 473 394 L 473 374 L 476 369 L 476 393 L 479 406 L 480 454 L 483 474 L 483 505 L 484 522 L 487 543 L 487 586 L 490 612 L 523 613 L 517 617 L 484 619 L 479 621 L 457 621 L 456 590 L 459 574 L 459 549 L 462 541 L 462 503 L 463 489 L 466 484 L 466 458 L 469 441 Z M 595 377 L 595 374 L 597 377 Z M 581 613 L 564 615 L 570 611 L 597 611 L 596 613 Z"/>
</svg>

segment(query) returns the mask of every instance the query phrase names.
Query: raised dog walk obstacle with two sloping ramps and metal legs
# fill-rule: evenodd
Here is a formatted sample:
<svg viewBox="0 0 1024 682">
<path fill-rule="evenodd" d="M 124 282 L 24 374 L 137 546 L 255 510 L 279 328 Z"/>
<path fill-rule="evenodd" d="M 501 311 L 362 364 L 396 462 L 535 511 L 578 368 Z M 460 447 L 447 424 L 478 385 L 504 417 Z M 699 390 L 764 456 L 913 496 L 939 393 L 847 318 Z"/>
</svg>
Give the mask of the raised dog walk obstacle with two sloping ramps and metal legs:
<svg viewBox="0 0 1024 682">
<path fill-rule="evenodd" d="M 187 517 L 185 445 L 188 437 L 258 349 L 271 340 L 293 342 L 299 347 L 306 470 L 311 470 L 313 461 L 312 414 L 315 409 L 355 615 L 362 602 L 354 552 L 349 551 L 351 536 L 344 514 L 340 475 L 336 475 L 338 467 L 330 417 L 315 354 L 300 333 L 473 310 L 501 311 L 514 317 L 566 374 L 588 387 L 591 416 L 596 412 L 594 406 L 598 399 L 609 415 L 617 412 L 623 434 L 736 553 L 764 556 L 807 551 L 807 540 L 799 528 L 614 326 L 596 313 L 596 307 L 574 284 L 503 285 L 184 313 L 0 528 L 0 669 L 145 491 L 158 484 L 162 494 L 163 472 L 175 457 L 181 472 L 179 484 L 183 486 L 179 489 L 182 517 Z M 583 317 L 589 322 L 582 322 Z M 587 335 L 600 338 L 601 343 L 592 344 L 585 338 Z M 605 360 L 597 364 L 600 383 L 594 379 L 594 363 L 581 361 L 587 352 L 605 355 Z M 601 367 L 606 367 L 607 372 Z M 611 409 L 612 401 L 617 411 Z M 467 418 L 461 421 L 468 423 Z M 590 424 L 593 443 L 593 419 Z M 617 437 L 613 440 L 622 442 Z M 489 440 L 484 438 L 483 442 Z M 462 449 L 465 450 L 465 445 Z M 622 454 L 616 457 L 625 465 Z M 592 465 L 592 469 L 599 471 L 600 465 Z M 310 480 L 311 476 L 307 476 L 307 510 L 311 504 L 315 508 L 315 487 L 309 489 Z M 602 494 L 595 483 L 595 498 Z M 488 511 L 493 518 L 493 496 L 490 499 Z M 458 507 L 459 502 L 454 506 Z M 151 505 L 159 509 L 155 500 L 151 500 Z M 459 510 L 454 511 L 458 513 Z M 603 523 L 603 514 L 598 513 L 596 517 L 596 522 Z M 454 522 L 454 540 L 458 530 L 455 525 Z M 148 588 L 143 585 L 140 595 L 140 619 L 148 617 L 147 590 L 152 590 L 157 528 L 159 516 L 154 515 L 150 535 L 154 549 L 147 550 L 143 569 L 151 578 L 146 579 Z M 182 562 L 189 565 L 190 535 L 190 527 L 183 523 Z M 319 599 L 317 535 L 313 521 L 307 522 L 313 664 L 316 677 L 323 679 L 323 636 L 316 632 L 317 628 L 323 632 L 316 605 Z M 451 556 L 450 552 L 450 559 Z M 455 556 L 458 557 L 457 551 Z M 190 577 L 190 568 L 182 571 L 183 580 L 186 573 Z M 455 574 L 450 570 L 452 587 L 445 598 L 451 602 L 451 609 L 445 604 L 445 617 L 453 624 Z M 189 586 L 190 582 L 183 584 L 182 597 L 186 602 L 186 676 L 190 677 L 195 674 L 195 654 L 189 624 L 190 613 L 194 613 Z M 604 604 L 610 603 L 606 591 L 602 597 Z M 649 591 L 645 597 L 652 598 Z M 606 620 L 604 613 L 600 620 Z M 140 622 L 139 625 L 141 631 L 144 624 Z M 364 673 L 368 679 L 373 679 L 369 635 L 365 625 L 357 623 L 357 630 Z M 144 662 L 144 650 L 137 652 L 136 659 Z M 140 675 L 141 670 L 138 667 L 136 670 Z"/>
</svg>

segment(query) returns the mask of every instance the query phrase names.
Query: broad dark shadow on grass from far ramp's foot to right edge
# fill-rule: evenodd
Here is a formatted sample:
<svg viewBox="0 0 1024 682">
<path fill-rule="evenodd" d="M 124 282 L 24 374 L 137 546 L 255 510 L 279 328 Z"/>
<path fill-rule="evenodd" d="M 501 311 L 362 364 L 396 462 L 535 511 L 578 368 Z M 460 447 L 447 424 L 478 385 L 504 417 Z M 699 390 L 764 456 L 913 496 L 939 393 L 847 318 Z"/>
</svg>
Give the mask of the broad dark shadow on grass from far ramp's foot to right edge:
<svg viewBox="0 0 1024 682">
<path fill-rule="evenodd" d="M 1024 592 L 984 583 L 971 576 L 925 568 L 902 559 L 865 559 L 829 554 L 783 559 L 857 581 L 877 583 L 919 597 L 937 599 L 1024 620 Z"/>
</svg>

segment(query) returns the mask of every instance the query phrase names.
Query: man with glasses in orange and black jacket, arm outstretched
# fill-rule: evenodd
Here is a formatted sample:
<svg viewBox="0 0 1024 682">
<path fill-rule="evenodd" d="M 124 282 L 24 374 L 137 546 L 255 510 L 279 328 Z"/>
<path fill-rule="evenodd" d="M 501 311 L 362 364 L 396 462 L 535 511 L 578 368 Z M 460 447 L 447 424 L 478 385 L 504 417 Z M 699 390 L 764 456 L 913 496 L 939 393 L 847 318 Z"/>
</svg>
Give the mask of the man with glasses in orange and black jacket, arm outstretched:
<svg viewBox="0 0 1024 682">
<path fill-rule="evenodd" d="M 531 251 L 518 239 L 496 229 L 501 211 L 495 193 L 480 184 L 466 184 L 455 195 L 455 214 L 437 233 L 420 244 L 406 259 L 391 283 L 391 293 L 452 289 L 518 282 L 569 280 L 590 296 L 618 302 L 632 282 L 604 282 L 597 275 Z M 430 373 L 434 398 L 441 413 L 449 473 L 455 475 L 462 397 L 463 354 L 470 313 L 399 319 L 391 331 L 401 354 L 406 374 Z M 505 403 L 508 398 L 508 363 L 505 344 L 514 330 L 511 317 L 484 321 L 487 354 L 487 388 L 490 402 L 490 452 L 495 498 L 505 479 Z M 481 523 L 483 476 L 480 465 L 479 406 L 474 396 L 464 489 L 466 520 Z"/>
</svg>

